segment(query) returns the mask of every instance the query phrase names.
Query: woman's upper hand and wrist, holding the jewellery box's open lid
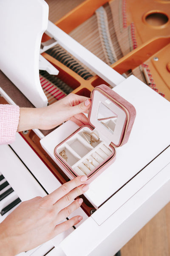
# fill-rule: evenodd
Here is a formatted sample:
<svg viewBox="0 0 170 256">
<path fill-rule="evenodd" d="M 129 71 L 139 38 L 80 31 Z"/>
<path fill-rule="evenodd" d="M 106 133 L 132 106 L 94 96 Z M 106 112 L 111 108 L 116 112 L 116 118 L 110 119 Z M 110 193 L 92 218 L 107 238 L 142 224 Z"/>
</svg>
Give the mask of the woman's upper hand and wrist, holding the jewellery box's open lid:
<svg viewBox="0 0 170 256">
<path fill-rule="evenodd" d="M 52 105 L 44 108 L 20 108 L 20 121 L 17 131 L 29 129 L 48 130 L 69 119 L 81 126 L 89 124 L 87 113 L 91 100 L 84 96 L 70 93 Z"/>
</svg>

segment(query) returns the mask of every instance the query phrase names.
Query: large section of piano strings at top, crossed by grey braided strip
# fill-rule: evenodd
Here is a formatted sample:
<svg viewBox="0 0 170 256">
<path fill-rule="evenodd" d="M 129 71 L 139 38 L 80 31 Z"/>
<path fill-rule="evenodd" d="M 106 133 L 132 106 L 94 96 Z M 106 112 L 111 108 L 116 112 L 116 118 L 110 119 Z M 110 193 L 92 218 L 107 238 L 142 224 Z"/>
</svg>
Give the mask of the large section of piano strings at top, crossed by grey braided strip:
<svg viewBox="0 0 170 256">
<path fill-rule="evenodd" d="M 101 12 L 105 18 L 101 17 Z M 103 36 L 101 31 L 104 28 L 107 28 L 107 32 Z M 108 65 L 137 47 L 134 24 L 127 26 L 125 0 L 106 3 L 69 35 Z M 112 61 L 106 56 L 105 40 L 109 42 Z"/>
</svg>

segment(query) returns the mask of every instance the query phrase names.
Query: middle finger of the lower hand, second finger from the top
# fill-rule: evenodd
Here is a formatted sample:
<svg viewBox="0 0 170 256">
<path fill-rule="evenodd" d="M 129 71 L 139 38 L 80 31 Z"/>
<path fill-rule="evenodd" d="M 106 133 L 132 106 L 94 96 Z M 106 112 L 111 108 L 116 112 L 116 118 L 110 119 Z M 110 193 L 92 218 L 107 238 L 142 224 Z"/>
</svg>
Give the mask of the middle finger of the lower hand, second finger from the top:
<svg viewBox="0 0 170 256">
<path fill-rule="evenodd" d="M 62 184 L 62 186 L 60 186 L 58 189 L 54 190 L 54 192 L 52 192 L 51 194 L 47 195 L 47 197 L 50 198 L 50 200 L 53 204 L 55 204 L 60 198 L 62 198 L 66 194 L 68 194 L 72 189 L 83 184 L 86 180 L 87 180 L 87 176 L 85 176 L 85 175 L 76 177 L 73 180 L 70 180 L 70 181 Z M 81 195 L 81 194 L 79 194 L 79 195 Z M 67 205 L 67 204 L 65 204 L 65 205 Z"/>
</svg>

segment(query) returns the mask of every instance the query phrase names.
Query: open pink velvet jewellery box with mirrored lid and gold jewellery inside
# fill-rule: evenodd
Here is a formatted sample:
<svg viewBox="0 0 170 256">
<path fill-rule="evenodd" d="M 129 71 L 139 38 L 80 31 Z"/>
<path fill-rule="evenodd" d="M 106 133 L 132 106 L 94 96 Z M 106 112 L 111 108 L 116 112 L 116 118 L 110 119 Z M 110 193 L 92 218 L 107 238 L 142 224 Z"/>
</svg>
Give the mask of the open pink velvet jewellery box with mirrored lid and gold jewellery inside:
<svg viewBox="0 0 170 256">
<path fill-rule="evenodd" d="M 54 148 L 54 155 L 69 176 L 87 175 L 90 183 L 116 159 L 115 147 L 127 143 L 136 116 L 129 102 L 102 84 L 91 92 L 88 119 Z"/>
</svg>

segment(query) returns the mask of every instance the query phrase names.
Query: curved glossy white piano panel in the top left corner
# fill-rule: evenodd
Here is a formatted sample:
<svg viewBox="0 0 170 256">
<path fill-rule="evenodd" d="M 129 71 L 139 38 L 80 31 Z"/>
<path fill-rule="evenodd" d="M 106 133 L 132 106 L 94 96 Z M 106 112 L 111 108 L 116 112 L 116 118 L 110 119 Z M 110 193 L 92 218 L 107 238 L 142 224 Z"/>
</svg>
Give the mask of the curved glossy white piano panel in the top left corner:
<svg viewBox="0 0 170 256">
<path fill-rule="evenodd" d="M 0 69 L 35 107 L 46 106 L 39 55 L 48 25 L 48 4 L 44 0 L 1 0 L 0 24 Z"/>
</svg>

